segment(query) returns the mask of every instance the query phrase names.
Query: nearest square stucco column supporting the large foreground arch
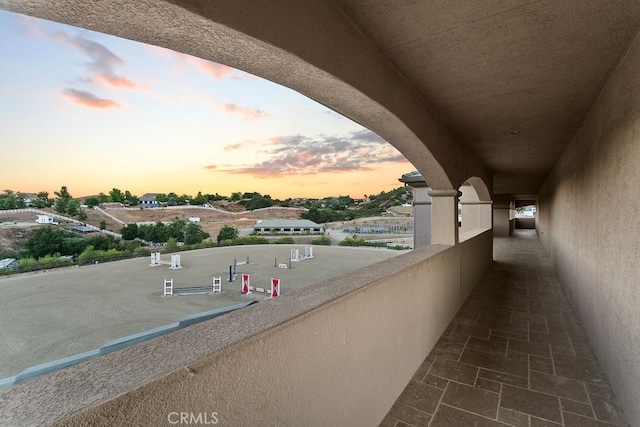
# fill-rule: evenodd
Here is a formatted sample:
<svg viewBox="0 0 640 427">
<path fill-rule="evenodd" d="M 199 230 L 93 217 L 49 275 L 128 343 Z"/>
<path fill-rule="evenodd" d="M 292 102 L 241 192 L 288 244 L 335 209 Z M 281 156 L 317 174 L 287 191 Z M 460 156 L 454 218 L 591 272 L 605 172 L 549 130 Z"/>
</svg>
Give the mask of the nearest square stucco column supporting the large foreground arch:
<svg viewBox="0 0 640 427">
<path fill-rule="evenodd" d="M 458 198 L 462 193 L 458 190 L 430 190 L 431 197 L 431 244 L 457 245 L 458 230 Z"/>
</svg>

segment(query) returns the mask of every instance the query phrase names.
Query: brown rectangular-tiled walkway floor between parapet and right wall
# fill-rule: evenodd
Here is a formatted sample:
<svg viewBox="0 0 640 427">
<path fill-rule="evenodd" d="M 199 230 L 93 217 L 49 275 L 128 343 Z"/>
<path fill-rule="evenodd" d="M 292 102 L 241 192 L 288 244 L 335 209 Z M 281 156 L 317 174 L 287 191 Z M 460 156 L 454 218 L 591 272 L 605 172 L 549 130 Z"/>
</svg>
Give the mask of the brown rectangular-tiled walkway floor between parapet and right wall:
<svg viewBox="0 0 640 427">
<path fill-rule="evenodd" d="M 494 262 L 381 426 L 627 425 L 535 230 Z"/>
</svg>

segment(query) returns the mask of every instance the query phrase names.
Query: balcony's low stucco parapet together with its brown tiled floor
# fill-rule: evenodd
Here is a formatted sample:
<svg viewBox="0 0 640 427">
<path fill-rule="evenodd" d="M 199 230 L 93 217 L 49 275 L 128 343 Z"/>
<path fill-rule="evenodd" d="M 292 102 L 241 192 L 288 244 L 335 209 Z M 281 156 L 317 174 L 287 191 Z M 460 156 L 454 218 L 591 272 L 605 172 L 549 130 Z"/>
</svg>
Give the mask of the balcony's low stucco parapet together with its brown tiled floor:
<svg viewBox="0 0 640 427">
<path fill-rule="evenodd" d="M 0 391 L 15 425 L 626 425 L 618 408 L 535 231 L 417 249 Z"/>
</svg>

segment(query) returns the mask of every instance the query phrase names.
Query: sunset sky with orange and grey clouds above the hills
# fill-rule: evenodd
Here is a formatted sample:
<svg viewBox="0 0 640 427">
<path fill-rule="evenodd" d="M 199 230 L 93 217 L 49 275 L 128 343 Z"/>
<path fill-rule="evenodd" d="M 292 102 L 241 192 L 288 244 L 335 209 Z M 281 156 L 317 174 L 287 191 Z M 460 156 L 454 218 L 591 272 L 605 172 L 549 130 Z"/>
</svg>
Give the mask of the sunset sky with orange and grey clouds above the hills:
<svg viewBox="0 0 640 427">
<path fill-rule="evenodd" d="M 399 187 L 375 133 L 245 72 L 0 10 L 0 191 L 274 198 Z"/>
</svg>

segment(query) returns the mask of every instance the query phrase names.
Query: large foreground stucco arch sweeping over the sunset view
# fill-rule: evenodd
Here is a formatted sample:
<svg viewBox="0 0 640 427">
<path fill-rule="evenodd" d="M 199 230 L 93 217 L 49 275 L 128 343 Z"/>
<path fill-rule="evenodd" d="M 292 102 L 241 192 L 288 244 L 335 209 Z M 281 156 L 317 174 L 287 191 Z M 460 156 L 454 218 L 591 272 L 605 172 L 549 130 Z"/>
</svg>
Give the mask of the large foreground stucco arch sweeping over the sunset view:
<svg viewBox="0 0 640 427">
<path fill-rule="evenodd" d="M 292 88 L 378 133 L 432 188 L 490 176 L 331 3 L 3 0 L 0 7 L 166 47 Z"/>
</svg>

